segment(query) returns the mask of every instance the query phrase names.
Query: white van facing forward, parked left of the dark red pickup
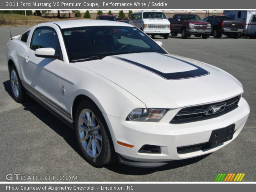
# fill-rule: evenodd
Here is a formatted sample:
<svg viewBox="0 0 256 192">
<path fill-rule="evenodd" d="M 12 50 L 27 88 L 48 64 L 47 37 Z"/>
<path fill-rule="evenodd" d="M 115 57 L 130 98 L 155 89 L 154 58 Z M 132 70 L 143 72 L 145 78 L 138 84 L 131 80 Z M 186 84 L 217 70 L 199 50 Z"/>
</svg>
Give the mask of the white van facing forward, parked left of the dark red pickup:
<svg viewBox="0 0 256 192">
<path fill-rule="evenodd" d="M 170 22 L 162 11 L 132 13 L 129 23 L 152 37 L 162 35 L 165 39 L 168 39 L 170 34 Z"/>
</svg>

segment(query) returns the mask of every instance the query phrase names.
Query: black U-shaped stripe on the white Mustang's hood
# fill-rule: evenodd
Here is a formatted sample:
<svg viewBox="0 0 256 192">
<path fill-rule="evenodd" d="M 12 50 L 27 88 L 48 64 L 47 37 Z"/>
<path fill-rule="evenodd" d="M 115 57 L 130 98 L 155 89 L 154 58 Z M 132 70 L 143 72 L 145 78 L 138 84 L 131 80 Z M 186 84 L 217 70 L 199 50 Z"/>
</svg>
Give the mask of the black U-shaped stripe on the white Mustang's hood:
<svg viewBox="0 0 256 192">
<path fill-rule="evenodd" d="M 144 69 L 146 69 L 146 70 L 148 70 L 148 71 L 150 71 L 150 72 L 152 72 L 154 74 L 157 74 L 158 76 L 161 76 L 162 78 L 167 79 L 167 80 L 187 79 L 187 78 L 200 77 L 200 76 L 204 76 L 204 75 L 210 74 L 208 71 L 206 71 L 203 68 L 200 68 L 199 66 L 196 66 L 196 65 L 194 65 L 194 64 L 192 64 L 190 62 L 187 62 L 187 61 L 184 61 L 184 60 L 181 60 L 181 59 L 169 56 L 169 55 L 165 55 L 165 54 L 161 54 L 161 55 L 167 56 L 167 57 L 170 57 L 170 58 L 182 61 L 182 62 L 185 62 L 187 64 L 190 64 L 190 65 L 196 67 L 197 69 L 190 70 L 190 71 L 184 71 L 184 72 L 163 73 L 163 72 L 155 70 L 155 69 L 153 69 L 151 67 L 148 67 L 146 65 L 134 62 L 132 60 L 121 58 L 121 57 L 118 57 L 118 56 L 112 56 L 112 58 L 115 58 L 115 59 L 118 59 L 118 60 L 130 63 L 130 64 L 133 64 L 133 65 L 136 65 L 136 66 L 141 67 L 141 68 L 144 68 Z"/>
</svg>

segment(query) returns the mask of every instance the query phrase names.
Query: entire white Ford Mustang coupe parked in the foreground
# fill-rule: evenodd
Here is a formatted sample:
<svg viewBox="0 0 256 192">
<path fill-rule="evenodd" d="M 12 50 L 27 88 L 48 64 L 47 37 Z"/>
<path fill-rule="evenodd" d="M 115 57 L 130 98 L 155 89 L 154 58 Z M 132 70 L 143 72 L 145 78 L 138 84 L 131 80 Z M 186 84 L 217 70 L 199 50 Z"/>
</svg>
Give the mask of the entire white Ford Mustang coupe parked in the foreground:
<svg viewBox="0 0 256 192">
<path fill-rule="evenodd" d="M 242 84 L 160 45 L 122 22 L 33 26 L 7 44 L 13 98 L 29 95 L 74 128 L 94 166 L 161 166 L 230 143 L 250 112 Z"/>
</svg>

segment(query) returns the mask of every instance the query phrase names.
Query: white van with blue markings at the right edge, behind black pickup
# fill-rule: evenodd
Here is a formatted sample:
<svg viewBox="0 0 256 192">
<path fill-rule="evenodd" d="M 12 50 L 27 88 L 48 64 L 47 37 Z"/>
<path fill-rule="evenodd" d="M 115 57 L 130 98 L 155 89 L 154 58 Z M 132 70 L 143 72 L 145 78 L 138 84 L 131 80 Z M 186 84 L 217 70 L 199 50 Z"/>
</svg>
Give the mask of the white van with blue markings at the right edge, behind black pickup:
<svg viewBox="0 0 256 192">
<path fill-rule="evenodd" d="M 246 24 L 243 34 L 245 37 L 256 38 L 256 10 L 224 10 L 224 15 L 228 15 L 232 20 L 243 20 Z"/>
</svg>

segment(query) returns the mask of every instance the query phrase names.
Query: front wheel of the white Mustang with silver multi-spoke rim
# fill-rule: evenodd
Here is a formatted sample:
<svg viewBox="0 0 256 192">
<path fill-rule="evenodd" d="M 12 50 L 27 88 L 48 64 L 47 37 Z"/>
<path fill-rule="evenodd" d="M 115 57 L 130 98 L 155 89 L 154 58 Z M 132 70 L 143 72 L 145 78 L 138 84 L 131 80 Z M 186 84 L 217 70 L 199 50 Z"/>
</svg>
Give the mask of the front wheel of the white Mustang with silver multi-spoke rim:
<svg viewBox="0 0 256 192">
<path fill-rule="evenodd" d="M 90 100 L 82 101 L 76 110 L 75 132 L 85 160 L 93 166 L 105 166 L 115 159 L 115 151 L 106 121 Z"/>
</svg>

